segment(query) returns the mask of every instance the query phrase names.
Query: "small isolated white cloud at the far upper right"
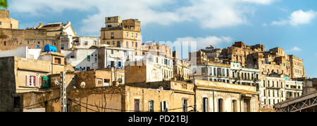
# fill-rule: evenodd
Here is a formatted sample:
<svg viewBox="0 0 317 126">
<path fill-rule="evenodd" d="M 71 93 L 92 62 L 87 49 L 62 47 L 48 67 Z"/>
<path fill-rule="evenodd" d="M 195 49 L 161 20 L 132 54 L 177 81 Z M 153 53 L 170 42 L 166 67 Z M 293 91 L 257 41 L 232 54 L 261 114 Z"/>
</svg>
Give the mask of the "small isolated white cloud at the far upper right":
<svg viewBox="0 0 317 126">
<path fill-rule="evenodd" d="M 311 23 L 317 16 L 317 12 L 313 10 L 303 11 L 297 10 L 294 11 L 287 20 L 273 21 L 271 25 L 307 25 Z"/>
</svg>

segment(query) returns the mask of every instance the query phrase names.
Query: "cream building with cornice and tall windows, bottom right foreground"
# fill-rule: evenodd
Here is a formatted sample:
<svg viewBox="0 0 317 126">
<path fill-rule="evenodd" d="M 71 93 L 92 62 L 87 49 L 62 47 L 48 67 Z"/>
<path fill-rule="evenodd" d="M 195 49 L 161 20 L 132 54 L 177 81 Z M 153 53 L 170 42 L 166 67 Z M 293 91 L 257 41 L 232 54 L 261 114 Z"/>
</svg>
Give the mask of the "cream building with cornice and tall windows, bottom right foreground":
<svg viewBox="0 0 317 126">
<path fill-rule="evenodd" d="M 199 112 L 258 112 L 255 86 L 194 80 Z"/>
</svg>

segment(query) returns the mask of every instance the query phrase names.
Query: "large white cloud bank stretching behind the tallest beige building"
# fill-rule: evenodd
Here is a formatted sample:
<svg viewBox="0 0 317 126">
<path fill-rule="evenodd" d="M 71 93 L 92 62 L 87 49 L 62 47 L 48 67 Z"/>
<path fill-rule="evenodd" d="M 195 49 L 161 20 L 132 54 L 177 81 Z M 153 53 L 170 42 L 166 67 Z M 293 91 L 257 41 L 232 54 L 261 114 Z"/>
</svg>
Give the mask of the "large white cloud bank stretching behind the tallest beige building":
<svg viewBox="0 0 317 126">
<path fill-rule="evenodd" d="M 94 33 L 104 26 L 104 18 L 120 15 L 125 18 L 137 18 L 142 25 L 157 23 L 170 25 L 175 22 L 195 21 L 201 27 L 216 29 L 248 23 L 247 16 L 254 14 L 251 4 L 268 5 L 278 0 L 15 0 L 15 8 L 20 13 L 30 15 L 49 15 L 63 10 L 99 12 L 82 20 L 81 32 Z M 185 2 L 185 5 L 179 2 Z M 187 4 L 188 3 L 188 4 Z M 176 5 L 177 4 L 177 5 Z M 174 6 L 174 8 L 170 8 Z M 76 13 L 75 10 L 74 13 Z M 49 12 L 49 13 L 47 13 Z M 72 20 L 70 20 L 72 21 Z"/>
</svg>

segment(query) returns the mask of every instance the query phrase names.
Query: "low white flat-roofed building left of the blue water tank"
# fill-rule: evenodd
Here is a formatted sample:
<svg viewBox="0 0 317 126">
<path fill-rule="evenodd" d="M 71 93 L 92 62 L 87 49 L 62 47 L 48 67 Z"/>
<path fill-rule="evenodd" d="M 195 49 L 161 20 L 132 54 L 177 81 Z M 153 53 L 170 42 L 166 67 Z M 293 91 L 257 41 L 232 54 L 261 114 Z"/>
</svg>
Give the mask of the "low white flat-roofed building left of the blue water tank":
<svg viewBox="0 0 317 126">
<path fill-rule="evenodd" d="M 0 50 L 0 57 L 23 57 L 28 59 L 39 59 L 42 49 L 29 49 L 27 46 L 16 48 L 16 50 Z"/>
</svg>

